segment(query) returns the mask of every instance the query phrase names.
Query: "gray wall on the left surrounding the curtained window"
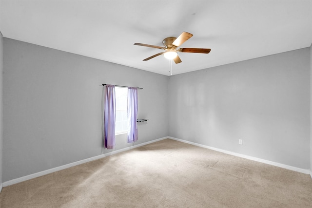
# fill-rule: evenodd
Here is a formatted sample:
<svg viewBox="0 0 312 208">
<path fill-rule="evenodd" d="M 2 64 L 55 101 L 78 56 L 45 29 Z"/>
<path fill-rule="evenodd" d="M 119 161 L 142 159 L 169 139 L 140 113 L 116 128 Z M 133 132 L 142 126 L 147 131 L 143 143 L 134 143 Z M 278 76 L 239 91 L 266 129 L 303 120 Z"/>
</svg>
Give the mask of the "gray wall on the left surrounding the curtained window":
<svg viewBox="0 0 312 208">
<path fill-rule="evenodd" d="M 137 86 L 137 143 L 168 136 L 168 77 L 3 38 L 3 181 L 108 152 L 102 83 Z M 115 150 L 132 146 L 117 136 Z"/>
</svg>

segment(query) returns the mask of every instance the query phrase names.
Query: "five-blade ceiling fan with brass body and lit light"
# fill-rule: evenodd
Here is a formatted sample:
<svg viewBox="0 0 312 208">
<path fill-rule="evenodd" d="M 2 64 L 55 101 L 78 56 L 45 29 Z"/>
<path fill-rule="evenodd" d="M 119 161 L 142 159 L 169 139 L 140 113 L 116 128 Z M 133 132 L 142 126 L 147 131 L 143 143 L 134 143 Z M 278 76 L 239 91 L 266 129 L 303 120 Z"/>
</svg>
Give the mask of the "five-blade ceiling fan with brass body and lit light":
<svg viewBox="0 0 312 208">
<path fill-rule="evenodd" d="M 164 55 L 164 57 L 168 59 L 173 59 L 175 63 L 181 63 L 180 57 L 177 55 L 177 52 L 181 53 L 200 53 L 200 54 L 209 54 L 211 49 L 209 48 L 179 48 L 182 43 L 186 40 L 190 39 L 193 35 L 191 33 L 183 32 L 179 37 L 168 37 L 162 40 L 164 47 L 156 46 L 156 45 L 148 45 L 143 43 L 134 43 L 134 45 L 146 46 L 151 48 L 158 48 L 165 50 L 164 52 L 160 52 L 151 57 L 143 59 L 143 61 L 150 60 L 151 58 L 158 57 L 159 55 Z"/>
</svg>

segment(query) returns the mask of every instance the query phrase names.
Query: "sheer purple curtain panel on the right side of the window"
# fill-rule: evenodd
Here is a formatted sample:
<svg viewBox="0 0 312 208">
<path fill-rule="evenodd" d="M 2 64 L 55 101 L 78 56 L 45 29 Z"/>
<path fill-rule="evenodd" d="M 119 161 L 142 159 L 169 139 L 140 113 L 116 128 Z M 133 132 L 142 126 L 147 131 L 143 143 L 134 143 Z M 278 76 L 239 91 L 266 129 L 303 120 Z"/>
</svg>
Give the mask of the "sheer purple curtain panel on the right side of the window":
<svg viewBox="0 0 312 208">
<path fill-rule="evenodd" d="M 128 87 L 128 143 L 137 141 L 137 88 Z"/>
</svg>

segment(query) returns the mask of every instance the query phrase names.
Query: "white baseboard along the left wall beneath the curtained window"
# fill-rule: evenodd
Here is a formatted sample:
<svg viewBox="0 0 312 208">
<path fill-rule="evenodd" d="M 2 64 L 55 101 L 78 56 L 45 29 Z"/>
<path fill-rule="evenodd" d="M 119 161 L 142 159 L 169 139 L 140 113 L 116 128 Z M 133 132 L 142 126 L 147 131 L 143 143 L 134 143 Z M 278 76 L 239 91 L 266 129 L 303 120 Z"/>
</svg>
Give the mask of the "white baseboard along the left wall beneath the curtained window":
<svg viewBox="0 0 312 208">
<path fill-rule="evenodd" d="M 36 173 L 30 174 L 30 175 L 22 176 L 20 178 L 16 178 L 16 179 L 13 179 L 13 180 L 10 180 L 10 181 L 3 182 L 1 184 L 1 186 L 0 186 L 0 188 L 2 189 L 2 186 L 3 187 L 11 186 L 13 184 L 17 184 L 17 183 L 20 183 L 20 182 L 23 182 L 23 181 L 27 181 L 27 180 L 30 180 L 30 179 L 33 179 L 33 178 L 37 178 L 37 177 L 42 176 L 42 175 L 46 175 L 46 174 L 49 174 L 49 173 L 52 173 L 52 172 L 56 172 L 56 171 L 59 171 L 59 170 L 64 170 L 64 169 L 67 169 L 67 168 L 70 168 L 70 167 L 73 167 L 73 166 L 77 166 L 77 165 L 80 165 L 80 164 L 83 164 L 83 163 L 87 163 L 87 162 L 90 162 L 90 161 L 93 161 L 93 160 L 98 160 L 98 159 L 101 159 L 101 158 L 109 156 L 109 155 L 117 154 L 117 153 L 122 152 L 122 151 L 131 150 L 131 149 L 134 149 L 134 148 L 137 148 L 137 147 L 141 147 L 143 145 L 151 144 L 151 143 L 154 143 L 154 142 L 157 142 L 157 141 L 160 141 L 160 140 L 163 140 L 163 139 L 167 139 L 167 138 L 168 138 L 167 136 L 166 137 L 162 137 L 162 138 L 159 138 L 159 139 L 155 139 L 155 140 L 152 140 L 152 141 L 148 141 L 148 142 L 137 144 L 137 145 L 134 145 L 134 146 L 131 146 L 131 147 L 127 147 L 127 148 L 124 148 L 124 149 L 121 149 L 121 150 L 116 150 L 116 151 L 108 152 L 108 153 L 105 153 L 105 154 L 100 154 L 100 155 L 95 156 L 95 157 L 90 157 L 90 158 L 87 158 L 87 159 L 84 159 L 84 160 L 80 160 L 80 161 L 77 161 L 77 162 L 69 163 L 69 164 L 66 164 L 66 165 L 63 165 L 63 166 L 59 166 L 59 167 L 56 167 L 56 168 L 52 168 L 52 169 L 49 169 L 49 170 L 43 170 L 43 171 L 36 172 Z"/>
</svg>

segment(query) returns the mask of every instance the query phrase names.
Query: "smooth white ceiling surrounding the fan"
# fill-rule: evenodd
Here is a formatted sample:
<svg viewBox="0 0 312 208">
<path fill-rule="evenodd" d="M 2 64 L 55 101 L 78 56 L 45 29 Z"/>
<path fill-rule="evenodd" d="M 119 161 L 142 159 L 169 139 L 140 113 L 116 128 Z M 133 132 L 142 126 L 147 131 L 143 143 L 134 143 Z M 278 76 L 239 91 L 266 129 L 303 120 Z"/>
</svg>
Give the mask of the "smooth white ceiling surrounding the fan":
<svg viewBox="0 0 312 208">
<path fill-rule="evenodd" d="M 0 0 L 0 31 L 17 39 L 169 76 L 162 45 L 183 31 L 173 74 L 309 47 L 312 0 Z"/>
</svg>

